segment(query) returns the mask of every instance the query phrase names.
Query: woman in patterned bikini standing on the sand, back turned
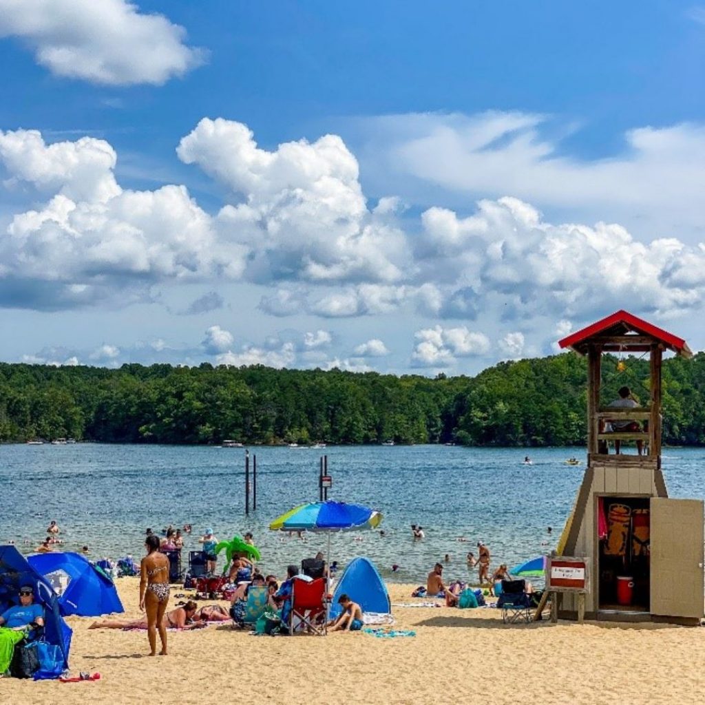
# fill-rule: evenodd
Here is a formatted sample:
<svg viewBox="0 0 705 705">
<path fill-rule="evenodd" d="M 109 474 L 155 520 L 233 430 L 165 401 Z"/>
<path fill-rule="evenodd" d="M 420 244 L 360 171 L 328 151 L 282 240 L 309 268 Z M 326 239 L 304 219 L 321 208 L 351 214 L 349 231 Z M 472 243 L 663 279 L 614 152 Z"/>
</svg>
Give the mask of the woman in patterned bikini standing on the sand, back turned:
<svg viewBox="0 0 705 705">
<path fill-rule="evenodd" d="M 169 601 L 169 560 L 159 552 L 159 537 L 150 534 L 145 540 L 147 556 L 140 568 L 140 610 L 147 613 L 149 656 L 157 653 L 157 630 L 161 640 L 161 656 L 166 656 L 164 614 Z"/>
</svg>

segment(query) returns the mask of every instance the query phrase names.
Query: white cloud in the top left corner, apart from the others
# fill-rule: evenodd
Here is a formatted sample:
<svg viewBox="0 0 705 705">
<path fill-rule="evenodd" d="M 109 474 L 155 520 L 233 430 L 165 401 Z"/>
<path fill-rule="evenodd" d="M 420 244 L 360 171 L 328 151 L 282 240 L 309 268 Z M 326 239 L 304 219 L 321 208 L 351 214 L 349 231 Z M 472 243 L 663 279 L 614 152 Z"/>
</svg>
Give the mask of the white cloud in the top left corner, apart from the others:
<svg viewBox="0 0 705 705">
<path fill-rule="evenodd" d="M 22 39 L 54 75 L 107 85 L 160 85 L 205 57 L 183 27 L 127 0 L 0 0 L 0 37 Z"/>
</svg>

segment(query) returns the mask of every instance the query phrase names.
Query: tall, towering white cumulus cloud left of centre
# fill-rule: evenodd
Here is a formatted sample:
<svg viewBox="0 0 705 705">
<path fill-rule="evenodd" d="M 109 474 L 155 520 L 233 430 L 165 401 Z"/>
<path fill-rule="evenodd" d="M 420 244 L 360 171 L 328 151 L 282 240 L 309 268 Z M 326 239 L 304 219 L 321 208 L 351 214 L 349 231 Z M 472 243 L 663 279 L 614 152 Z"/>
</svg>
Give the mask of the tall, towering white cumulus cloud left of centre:
<svg viewBox="0 0 705 705">
<path fill-rule="evenodd" d="M 246 125 L 204 118 L 177 153 L 231 190 L 219 226 L 252 248 L 247 276 L 254 281 L 391 283 L 412 265 L 389 204 L 379 214 L 367 209 L 357 160 L 337 135 L 269 152 Z"/>
</svg>

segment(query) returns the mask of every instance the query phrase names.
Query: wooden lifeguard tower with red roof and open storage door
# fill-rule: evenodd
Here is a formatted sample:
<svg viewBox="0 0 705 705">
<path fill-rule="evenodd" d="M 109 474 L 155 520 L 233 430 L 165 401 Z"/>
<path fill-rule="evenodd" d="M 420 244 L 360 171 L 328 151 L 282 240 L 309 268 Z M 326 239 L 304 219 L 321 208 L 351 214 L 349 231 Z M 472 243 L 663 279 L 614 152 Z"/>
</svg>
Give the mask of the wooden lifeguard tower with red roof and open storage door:
<svg viewBox="0 0 705 705">
<path fill-rule="evenodd" d="M 587 558 L 586 616 L 699 623 L 703 502 L 669 499 L 661 468 L 661 360 L 666 351 L 692 353 L 682 338 L 626 311 L 559 344 L 588 362 L 587 467 L 558 546 L 563 556 Z M 613 354 L 611 367 L 605 353 Z M 632 369 L 646 358 L 648 378 L 644 362 L 642 374 Z M 630 402 L 615 405 L 603 398 L 608 378 L 604 386 L 611 390 L 618 384 L 640 388 Z M 577 596 L 560 594 L 558 600 L 559 616 L 577 617 Z"/>
</svg>

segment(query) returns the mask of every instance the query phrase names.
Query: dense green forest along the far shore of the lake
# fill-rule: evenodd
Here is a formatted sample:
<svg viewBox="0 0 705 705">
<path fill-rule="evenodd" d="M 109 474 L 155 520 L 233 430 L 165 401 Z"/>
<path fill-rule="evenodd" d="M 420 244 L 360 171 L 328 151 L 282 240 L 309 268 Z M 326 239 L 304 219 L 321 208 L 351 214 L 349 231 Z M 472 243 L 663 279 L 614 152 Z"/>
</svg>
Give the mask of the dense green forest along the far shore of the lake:
<svg viewBox="0 0 705 705">
<path fill-rule="evenodd" d="M 627 385 L 646 403 L 648 362 L 603 360 L 602 402 Z M 575 353 L 435 379 L 333 369 L 0 363 L 0 441 L 460 443 L 585 441 L 587 367 Z M 663 364 L 663 441 L 705 444 L 705 353 Z"/>
</svg>

